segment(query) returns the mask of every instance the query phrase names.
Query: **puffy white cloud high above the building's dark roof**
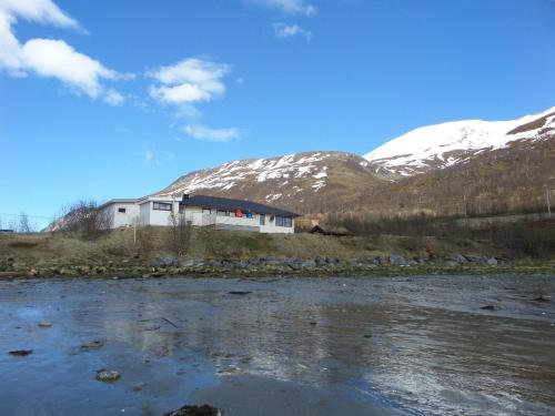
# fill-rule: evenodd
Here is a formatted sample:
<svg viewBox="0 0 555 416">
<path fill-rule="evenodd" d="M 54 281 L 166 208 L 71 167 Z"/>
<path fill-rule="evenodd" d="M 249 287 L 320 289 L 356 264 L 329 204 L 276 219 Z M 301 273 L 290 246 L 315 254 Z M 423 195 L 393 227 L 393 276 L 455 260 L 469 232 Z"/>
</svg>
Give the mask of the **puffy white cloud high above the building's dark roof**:
<svg viewBox="0 0 555 416">
<path fill-rule="evenodd" d="M 162 67 L 148 75 L 160 84 L 151 85 L 150 95 L 168 104 L 193 104 L 209 102 L 225 93 L 223 77 L 230 67 L 202 59 L 190 58 L 174 65 Z"/>
</svg>

